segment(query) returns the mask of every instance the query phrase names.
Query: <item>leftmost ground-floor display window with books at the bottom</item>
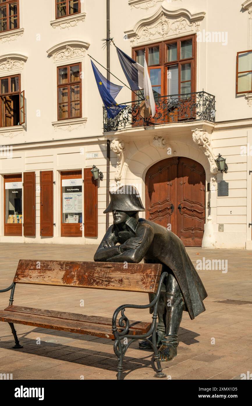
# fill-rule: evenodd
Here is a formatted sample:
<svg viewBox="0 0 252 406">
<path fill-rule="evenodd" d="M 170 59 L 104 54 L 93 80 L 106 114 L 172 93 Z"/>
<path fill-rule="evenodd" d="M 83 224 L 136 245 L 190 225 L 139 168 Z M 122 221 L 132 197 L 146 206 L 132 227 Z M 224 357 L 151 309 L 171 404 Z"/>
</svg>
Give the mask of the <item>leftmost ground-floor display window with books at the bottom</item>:
<svg viewBox="0 0 252 406">
<path fill-rule="evenodd" d="M 4 235 L 22 235 L 22 197 L 22 174 L 4 175 Z"/>
</svg>

